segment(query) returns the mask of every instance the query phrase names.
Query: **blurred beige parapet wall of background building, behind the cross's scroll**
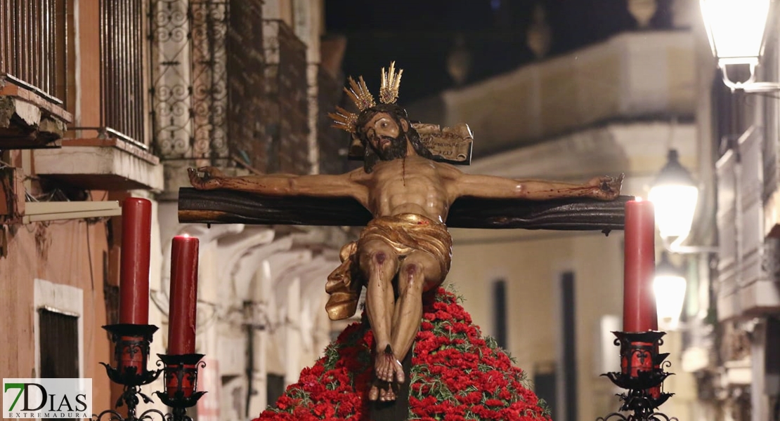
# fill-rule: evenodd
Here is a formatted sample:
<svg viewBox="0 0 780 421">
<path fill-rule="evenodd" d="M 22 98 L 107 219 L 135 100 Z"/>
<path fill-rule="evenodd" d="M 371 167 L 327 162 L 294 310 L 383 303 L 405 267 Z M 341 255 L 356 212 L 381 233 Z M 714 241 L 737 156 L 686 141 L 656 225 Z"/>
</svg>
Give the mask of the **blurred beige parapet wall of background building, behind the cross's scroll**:
<svg viewBox="0 0 780 421">
<path fill-rule="evenodd" d="M 622 33 L 410 104 L 409 113 L 449 127 L 467 123 L 475 157 L 607 122 L 690 117 L 695 56 L 687 31 Z"/>
</svg>

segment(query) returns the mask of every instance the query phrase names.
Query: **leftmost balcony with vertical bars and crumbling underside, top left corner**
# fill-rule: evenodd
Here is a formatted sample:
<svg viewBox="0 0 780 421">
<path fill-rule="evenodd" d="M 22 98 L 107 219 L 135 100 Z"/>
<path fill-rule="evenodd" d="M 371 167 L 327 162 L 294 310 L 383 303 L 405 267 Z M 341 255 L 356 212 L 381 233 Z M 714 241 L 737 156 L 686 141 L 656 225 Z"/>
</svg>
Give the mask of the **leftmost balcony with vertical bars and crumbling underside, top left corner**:
<svg viewBox="0 0 780 421">
<path fill-rule="evenodd" d="M 57 147 L 66 111 L 65 0 L 0 6 L 0 149 Z"/>
</svg>

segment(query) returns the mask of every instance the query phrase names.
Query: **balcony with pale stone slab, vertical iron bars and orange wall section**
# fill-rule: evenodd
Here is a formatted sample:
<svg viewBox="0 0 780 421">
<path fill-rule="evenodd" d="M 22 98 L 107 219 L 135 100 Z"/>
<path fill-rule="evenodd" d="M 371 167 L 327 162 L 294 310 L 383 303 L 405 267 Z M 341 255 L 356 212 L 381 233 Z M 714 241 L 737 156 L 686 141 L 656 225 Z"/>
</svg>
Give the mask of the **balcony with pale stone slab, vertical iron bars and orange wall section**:
<svg viewBox="0 0 780 421">
<path fill-rule="evenodd" d="M 81 89 L 80 124 L 69 128 L 61 149 L 35 151 L 36 173 L 87 190 L 161 191 L 163 170 L 148 146 L 144 2 L 97 5 L 80 11 L 94 22 L 80 28 L 80 51 L 100 66 L 84 66 L 78 77 L 99 89 Z"/>
</svg>

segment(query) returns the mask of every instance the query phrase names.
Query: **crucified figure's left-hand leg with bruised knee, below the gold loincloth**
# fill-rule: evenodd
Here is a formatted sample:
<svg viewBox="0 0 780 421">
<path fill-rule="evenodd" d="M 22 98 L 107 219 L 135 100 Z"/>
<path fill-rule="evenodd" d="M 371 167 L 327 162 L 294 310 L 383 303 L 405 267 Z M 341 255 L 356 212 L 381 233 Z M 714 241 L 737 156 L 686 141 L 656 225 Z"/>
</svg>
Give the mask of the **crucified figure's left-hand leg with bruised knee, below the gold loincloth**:
<svg viewBox="0 0 780 421">
<path fill-rule="evenodd" d="M 398 268 L 398 256 L 381 240 L 369 241 L 360 247 L 360 269 L 368 279 L 366 312 L 376 342 L 374 373 L 380 381 L 392 381 L 397 363 L 392 353 L 391 328 L 395 306 L 392 279 Z M 372 394 L 370 394 L 370 398 Z"/>
</svg>

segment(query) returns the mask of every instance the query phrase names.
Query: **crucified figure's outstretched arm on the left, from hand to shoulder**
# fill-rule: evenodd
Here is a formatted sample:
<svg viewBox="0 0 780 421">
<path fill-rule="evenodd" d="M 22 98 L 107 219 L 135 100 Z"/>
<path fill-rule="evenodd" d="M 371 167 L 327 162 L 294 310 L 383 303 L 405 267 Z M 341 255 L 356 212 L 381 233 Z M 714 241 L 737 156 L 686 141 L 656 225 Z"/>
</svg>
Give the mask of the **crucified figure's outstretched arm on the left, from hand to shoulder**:
<svg viewBox="0 0 780 421">
<path fill-rule="evenodd" d="M 358 172 L 340 175 L 268 174 L 227 177 L 215 167 L 187 170 L 190 183 L 199 190 L 238 190 L 260 195 L 353 197 L 360 200 L 366 188 L 357 181 Z"/>
</svg>

